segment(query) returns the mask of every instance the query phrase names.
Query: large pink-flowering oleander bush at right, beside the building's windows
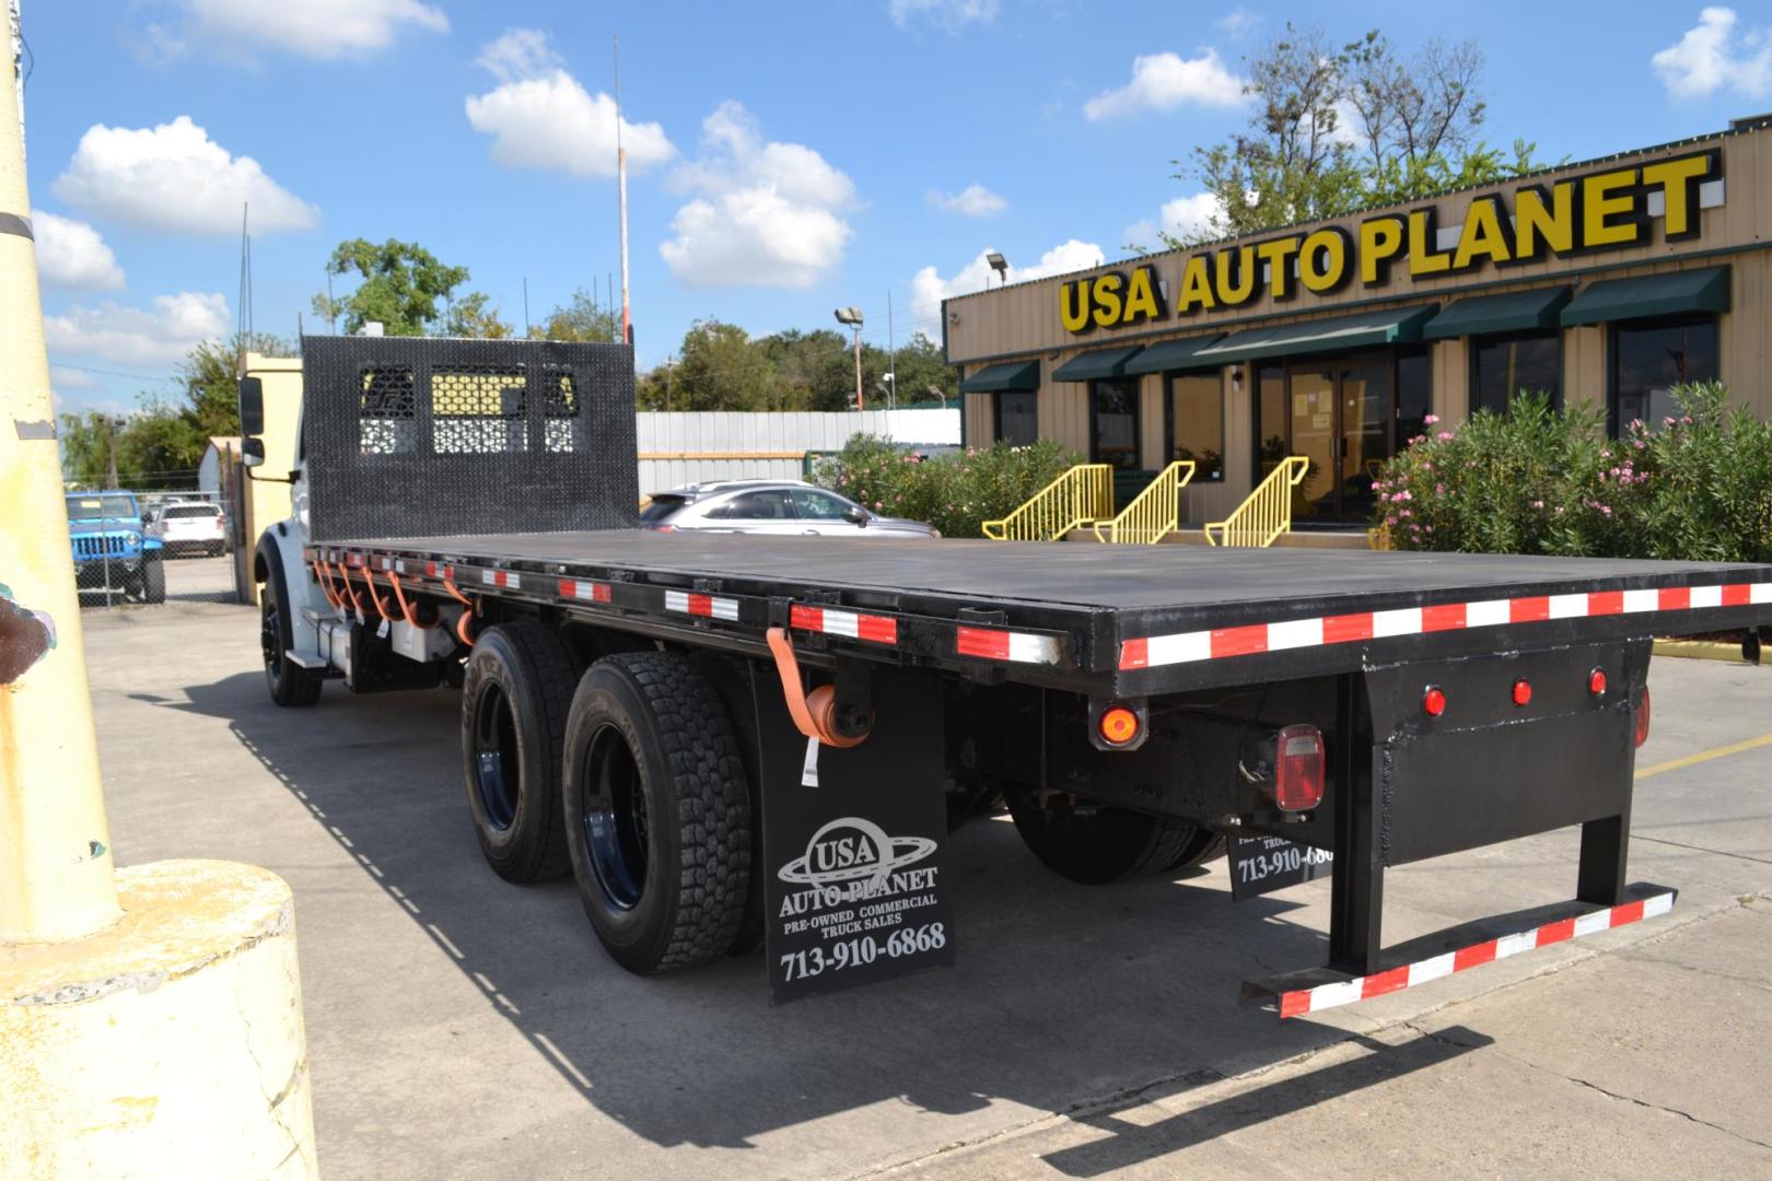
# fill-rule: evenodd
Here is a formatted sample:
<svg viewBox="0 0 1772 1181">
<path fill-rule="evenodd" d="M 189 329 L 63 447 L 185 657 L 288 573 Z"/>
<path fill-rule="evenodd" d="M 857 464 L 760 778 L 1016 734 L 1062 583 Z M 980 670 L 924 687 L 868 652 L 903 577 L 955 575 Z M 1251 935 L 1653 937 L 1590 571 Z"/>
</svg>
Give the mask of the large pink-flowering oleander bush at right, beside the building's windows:
<svg viewBox="0 0 1772 1181">
<path fill-rule="evenodd" d="M 1373 483 L 1396 549 L 1772 561 L 1772 425 L 1719 382 L 1675 390 L 1678 416 L 1605 437 L 1586 404 L 1522 395 L 1426 432 Z"/>
</svg>

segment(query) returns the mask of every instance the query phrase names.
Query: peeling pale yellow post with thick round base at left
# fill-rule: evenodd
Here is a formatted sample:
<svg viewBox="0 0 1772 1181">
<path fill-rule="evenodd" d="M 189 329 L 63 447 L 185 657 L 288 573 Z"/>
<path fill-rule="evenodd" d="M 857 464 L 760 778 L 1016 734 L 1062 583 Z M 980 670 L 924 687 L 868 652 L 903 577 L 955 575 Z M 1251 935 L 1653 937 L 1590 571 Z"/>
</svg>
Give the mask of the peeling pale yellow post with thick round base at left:
<svg viewBox="0 0 1772 1181">
<path fill-rule="evenodd" d="M 289 885 L 112 866 L 4 60 L 0 1177 L 315 1177 Z"/>
</svg>

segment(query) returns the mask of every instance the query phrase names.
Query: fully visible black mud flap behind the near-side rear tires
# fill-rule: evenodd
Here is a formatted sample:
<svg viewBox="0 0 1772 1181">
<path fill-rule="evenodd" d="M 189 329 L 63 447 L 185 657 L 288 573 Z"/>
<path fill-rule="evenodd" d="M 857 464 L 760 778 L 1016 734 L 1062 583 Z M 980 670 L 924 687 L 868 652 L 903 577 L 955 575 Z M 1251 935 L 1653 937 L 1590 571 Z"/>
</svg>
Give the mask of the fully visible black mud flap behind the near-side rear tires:
<svg viewBox="0 0 1772 1181">
<path fill-rule="evenodd" d="M 927 676 L 872 673 L 874 729 L 819 745 L 753 664 L 771 1002 L 953 963 L 943 703 Z"/>
</svg>

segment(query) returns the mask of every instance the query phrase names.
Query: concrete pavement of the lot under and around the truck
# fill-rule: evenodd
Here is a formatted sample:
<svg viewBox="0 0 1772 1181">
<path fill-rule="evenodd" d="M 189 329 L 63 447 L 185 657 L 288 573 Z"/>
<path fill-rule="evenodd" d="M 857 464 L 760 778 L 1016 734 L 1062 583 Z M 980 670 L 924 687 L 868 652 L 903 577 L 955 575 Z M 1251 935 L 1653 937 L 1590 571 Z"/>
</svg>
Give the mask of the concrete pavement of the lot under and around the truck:
<svg viewBox="0 0 1772 1181">
<path fill-rule="evenodd" d="M 1320 1020 L 1237 983 L 1320 960 L 1327 882 L 1086 889 L 1005 822 L 953 838 L 959 967 L 771 1009 L 757 956 L 638 979 L 569 884 L 500 882 L 454 694 L 282 712 L 246 607 L 85 623 L 119 864 L 232 857 L 296 891 L 333 1177 L 1772 1176 L 1772 747 L 1641 783 L 1632 876 L 1680 887 L 1669 917 Z M 1652 685 L 1646 768 L 1772 731 L 1772 669 Z M 1387 940 L 1565 899 L 1574 848 L 1393 871 Z"/>
</svg>

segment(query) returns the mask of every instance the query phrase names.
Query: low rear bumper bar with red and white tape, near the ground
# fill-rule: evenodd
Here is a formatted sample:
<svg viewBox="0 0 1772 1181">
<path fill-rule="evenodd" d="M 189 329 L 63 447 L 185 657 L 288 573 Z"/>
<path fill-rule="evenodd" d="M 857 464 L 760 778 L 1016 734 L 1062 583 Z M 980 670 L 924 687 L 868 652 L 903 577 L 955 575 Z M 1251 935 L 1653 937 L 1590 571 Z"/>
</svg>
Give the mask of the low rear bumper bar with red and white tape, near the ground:
<svg viewBox="0 0 1772 1181">
<path fill-rule="evenodd" d="M 1366 976 L 1310 969 L 1247 981 L 1242 986 L 1242 1000 L 1276 1009 L 1283 1018 L 1372 1000 L 1526 951 L 1664 915 L 1673 910 L 1678 891 L 1637 882 L 1627 887 L 1625 894 L 1627 901 L 1616 907 L 1556 903 L 1423 935 L 1386 951 L 1384 961 L 1391 967 Z"/>
</svg>

